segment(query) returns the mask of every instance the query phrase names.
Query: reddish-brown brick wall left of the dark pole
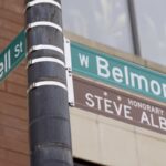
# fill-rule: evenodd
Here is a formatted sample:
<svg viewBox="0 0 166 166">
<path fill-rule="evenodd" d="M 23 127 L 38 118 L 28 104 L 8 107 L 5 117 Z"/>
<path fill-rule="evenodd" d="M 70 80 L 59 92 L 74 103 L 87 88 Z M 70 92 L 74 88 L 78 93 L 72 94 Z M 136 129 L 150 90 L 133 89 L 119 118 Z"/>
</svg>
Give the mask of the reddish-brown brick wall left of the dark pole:
<svg viewBox="0 0 166 166">
<path fill-rule="evenodd" d="M 0 50 L 23 29 L 22 0 L 0 1 Z M 25 62 L 0 85 L 0 165 L 28 166 L 29 138 Z"/>
</svg>

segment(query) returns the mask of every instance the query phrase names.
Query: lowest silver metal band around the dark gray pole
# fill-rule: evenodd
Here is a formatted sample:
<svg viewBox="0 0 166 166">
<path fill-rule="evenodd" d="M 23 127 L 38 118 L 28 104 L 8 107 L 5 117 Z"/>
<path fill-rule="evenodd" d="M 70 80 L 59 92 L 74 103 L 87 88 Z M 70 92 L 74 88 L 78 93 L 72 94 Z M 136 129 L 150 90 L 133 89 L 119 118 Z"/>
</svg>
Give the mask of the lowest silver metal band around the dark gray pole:
<svg viewBox="0 0 166 166">
<path fill-rule="evenodd" d="M 65 84 L 58 82 L 58 81 L 39 81 L 39 82 L 32 83 L 29 86 L 29 89 L 27 90 L 27 93 L 29 93 L 31 90 L 33 90 L 35 87 L 40 87 L 40 86 L 59 86 L 64 90 L 68 90 Z"/>
</svg>

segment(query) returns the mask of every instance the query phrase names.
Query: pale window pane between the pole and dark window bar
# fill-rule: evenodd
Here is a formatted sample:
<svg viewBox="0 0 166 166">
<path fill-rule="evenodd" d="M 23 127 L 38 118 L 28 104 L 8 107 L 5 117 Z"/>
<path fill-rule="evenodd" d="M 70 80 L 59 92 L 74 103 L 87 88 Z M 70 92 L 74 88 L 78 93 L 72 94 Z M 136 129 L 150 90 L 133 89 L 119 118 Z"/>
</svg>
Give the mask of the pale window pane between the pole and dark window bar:
<svg viewBox="0 0 166 166">
<path fill-rule="evenodd" d="M 127 0 L 62 0 L 64 30 L 133 53 Z"/>
</svg>

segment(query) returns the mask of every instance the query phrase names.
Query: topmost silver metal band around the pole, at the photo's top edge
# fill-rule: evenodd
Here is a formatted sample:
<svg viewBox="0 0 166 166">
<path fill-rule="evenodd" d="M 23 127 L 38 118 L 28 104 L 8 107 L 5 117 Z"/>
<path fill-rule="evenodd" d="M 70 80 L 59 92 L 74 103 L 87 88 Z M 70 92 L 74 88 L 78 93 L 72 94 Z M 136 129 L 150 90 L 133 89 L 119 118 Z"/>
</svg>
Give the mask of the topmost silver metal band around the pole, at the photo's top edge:
<svg viewBox="0 0 166 166">
<path fill-rule="evenodd" d="M 50 3 L 50 4 L 58 7 L 59 9 L 62 9 L 61 4 L 54 0 L 33 0 L 33 1 L 27 3 L 27 9 L 30 7 L 33 7 L 35 4 L 41 4 L 41 3 Z"/>
</svg>

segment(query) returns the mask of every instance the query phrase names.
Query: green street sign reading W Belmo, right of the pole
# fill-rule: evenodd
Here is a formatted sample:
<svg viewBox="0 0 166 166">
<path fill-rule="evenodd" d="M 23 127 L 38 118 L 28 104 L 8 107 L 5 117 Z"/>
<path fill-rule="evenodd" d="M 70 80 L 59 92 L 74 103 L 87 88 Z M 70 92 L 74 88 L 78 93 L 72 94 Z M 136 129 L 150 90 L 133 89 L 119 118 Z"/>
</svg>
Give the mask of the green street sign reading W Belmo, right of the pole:
<svg viewBox="0 0 166 166">
<path fill-rule="evenodd" d="M 166 74 L 71 42 L 73 72 L 166 102 Z"/>
</svg>

